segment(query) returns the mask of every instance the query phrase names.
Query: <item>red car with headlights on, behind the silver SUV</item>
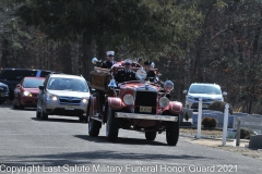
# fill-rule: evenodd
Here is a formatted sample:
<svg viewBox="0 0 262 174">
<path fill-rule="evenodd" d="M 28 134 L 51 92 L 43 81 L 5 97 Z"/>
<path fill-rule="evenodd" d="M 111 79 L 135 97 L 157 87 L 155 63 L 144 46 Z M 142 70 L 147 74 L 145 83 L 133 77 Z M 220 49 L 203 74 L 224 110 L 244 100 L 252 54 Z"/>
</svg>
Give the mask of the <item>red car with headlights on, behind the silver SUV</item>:
<svg viewBox="0 0 262 174">
<path fill-rule="evenodd" d="M 13 108 L 24 109 L 36 107 L 39 86 L 43 86 L 45 77 L 24 77 L 14 89 Z"/>
</svg>

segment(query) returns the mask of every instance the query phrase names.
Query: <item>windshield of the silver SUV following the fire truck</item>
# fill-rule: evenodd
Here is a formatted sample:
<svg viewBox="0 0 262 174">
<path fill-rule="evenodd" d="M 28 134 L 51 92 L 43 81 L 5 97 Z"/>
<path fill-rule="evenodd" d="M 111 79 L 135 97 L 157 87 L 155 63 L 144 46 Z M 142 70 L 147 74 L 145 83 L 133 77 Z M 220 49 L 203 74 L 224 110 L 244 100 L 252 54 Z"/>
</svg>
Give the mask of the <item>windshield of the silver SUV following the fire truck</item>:
<svg viewBox="0 0 262 174">
<path fill-rule="evenodd" d="M 84 79 L 75 79 L 75 78 L 61 78 L 61 77 L 52 77 L 50 78 L 47 89 L 51 90 L 70 90 L 70 91 L 81 91 L 87 92 L 87 84 Z"/>
</svg>

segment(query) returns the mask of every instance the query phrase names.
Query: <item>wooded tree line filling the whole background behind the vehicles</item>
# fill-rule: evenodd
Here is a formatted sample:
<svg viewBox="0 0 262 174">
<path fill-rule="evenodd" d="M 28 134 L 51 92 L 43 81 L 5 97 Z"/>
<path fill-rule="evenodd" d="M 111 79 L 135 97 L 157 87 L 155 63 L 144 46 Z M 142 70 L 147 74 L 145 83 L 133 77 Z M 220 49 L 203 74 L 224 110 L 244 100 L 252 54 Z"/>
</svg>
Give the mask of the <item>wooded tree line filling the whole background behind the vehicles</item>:
<svg viewBox="0 0 262 174">
<path fill-rule="evenodd" d="M 159 60 L 176 100 L 191 83 L 217 83 L 234 108 L 262 113 L 261 17 L 258 0 L 0 0 L 0 67 L 60 71 L 70 40 L 74 73 L 112 49 L 116 60 Z"/>
</svg>

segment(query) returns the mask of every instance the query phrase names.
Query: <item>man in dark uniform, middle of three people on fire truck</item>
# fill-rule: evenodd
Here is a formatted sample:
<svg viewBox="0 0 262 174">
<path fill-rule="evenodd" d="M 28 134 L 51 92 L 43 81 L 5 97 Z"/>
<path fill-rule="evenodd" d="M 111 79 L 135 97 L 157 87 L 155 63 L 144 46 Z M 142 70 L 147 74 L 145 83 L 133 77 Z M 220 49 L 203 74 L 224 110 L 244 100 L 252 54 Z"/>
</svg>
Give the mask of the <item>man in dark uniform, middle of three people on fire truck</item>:
<svg viewBox="0 0 262 174">
<path fill-rule="evenodd" d="M 124 69 L 119 70 L 115 76 L 118 86 L 123 82 L 136 80 L 135 73 L 131 70 L 131 63 L 129 61 L 124 62 Z"/>
</svg>

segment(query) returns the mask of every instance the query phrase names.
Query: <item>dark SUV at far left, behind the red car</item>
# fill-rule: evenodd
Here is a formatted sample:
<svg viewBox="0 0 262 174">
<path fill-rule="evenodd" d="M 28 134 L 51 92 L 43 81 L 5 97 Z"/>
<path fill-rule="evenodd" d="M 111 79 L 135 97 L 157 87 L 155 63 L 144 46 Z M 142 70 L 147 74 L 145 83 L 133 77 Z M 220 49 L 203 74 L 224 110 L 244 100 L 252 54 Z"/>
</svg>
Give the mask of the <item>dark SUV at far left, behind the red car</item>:
<svg viewBox="0 0 262 174">
<path fill-rule="evenodd" d="M 47 70 L 3 69 L 0 73 L 0 83 L 8 85 L 9 90 L 12 91 L 9 94 L 9 99 L 13 100 L 14 98 L 13 91 L 23 77 L 25 76 L 46 77 L 50 73 L 52 72 Z"/>
</svg>

